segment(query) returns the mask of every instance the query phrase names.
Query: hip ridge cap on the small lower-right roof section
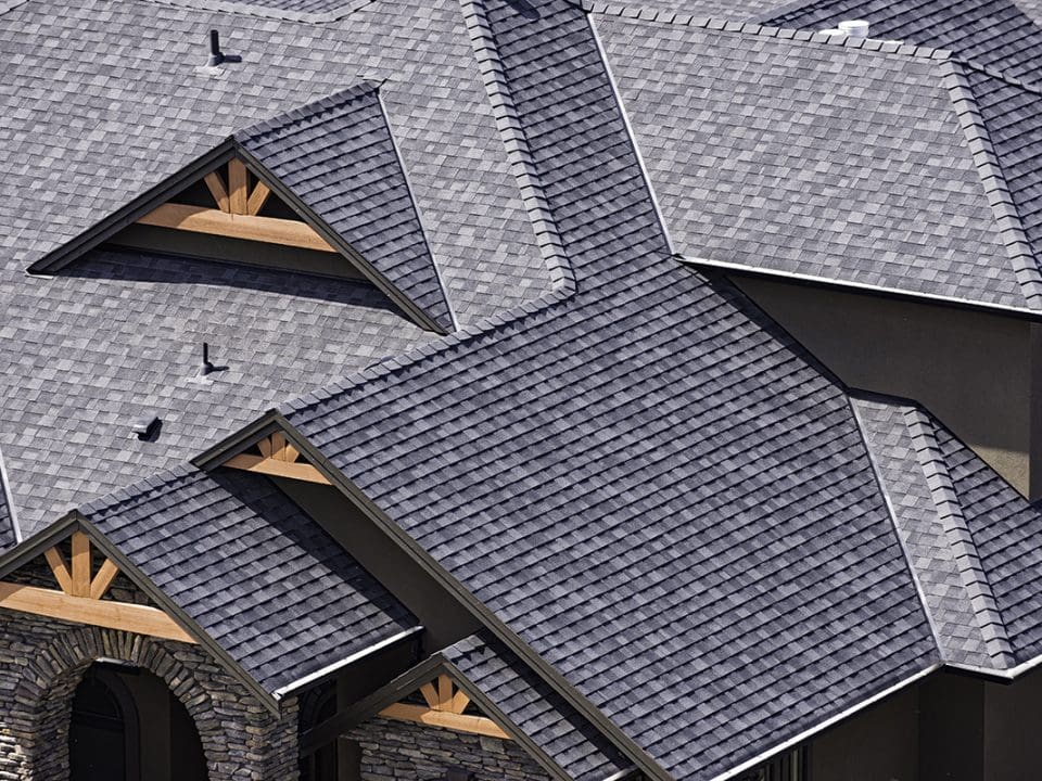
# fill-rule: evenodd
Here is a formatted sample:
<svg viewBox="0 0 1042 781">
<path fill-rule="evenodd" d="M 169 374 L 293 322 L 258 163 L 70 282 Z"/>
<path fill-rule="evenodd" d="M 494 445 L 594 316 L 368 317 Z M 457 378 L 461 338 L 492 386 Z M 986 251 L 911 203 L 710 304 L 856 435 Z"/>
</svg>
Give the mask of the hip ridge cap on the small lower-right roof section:
<svg viewBox="0 0 1042 781">
<path fill-rule="evenodd" d="M 912 435 L 916 459 L 926 476 L 926 485 L 937 505 L 938 520 L 955 558 L 955 565 L 969 596 L 984 648 L 992 658 L 1007 666 L 1016 664 L 1013 645 L 991 585 L 984 574 L 977 546 L 966 523 L 948 464 L 940 451 L 932 417 L 919 406 L 904 410 L 905 425 Z"/>
</svg>

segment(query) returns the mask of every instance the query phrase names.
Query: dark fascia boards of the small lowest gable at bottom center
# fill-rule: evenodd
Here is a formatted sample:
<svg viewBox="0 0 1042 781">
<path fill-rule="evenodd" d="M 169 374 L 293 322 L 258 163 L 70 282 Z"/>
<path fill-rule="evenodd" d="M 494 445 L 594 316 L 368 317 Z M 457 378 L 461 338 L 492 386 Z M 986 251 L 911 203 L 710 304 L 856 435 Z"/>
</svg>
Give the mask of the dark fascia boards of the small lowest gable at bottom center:
<svg viewBox="0 0 1042 781">
<path fill-rule="evenodd" d="M 313 751 L 321 748 L 327 743 L 340 737 L 344 730 L 372 718 L 387 705 L 396 703 L 407 694 L 411 694 L 423 683 L 430 682 L 434 676 L 443 673 L 456 681 L 456 684 L 482 709 L 485 716 L 491 718 L 499 729 L 512 735 L 514 742 L 520 744 L 552 778 L 558 781 L 572 781 L 571 776 L 550 759 L 546 752 L 539 748 L 529 735 L 519 729 L 506 714 L 485 696 L 484 692 L 482 692 L 473 681 L 467 678 L 452 662 L 446 660 L 441 652 L 432 654 L 416 667 L 406 670 L 390 683 L 381 687 L 372 694 L 363 697 L 344 713 L 338 714 L 307 730 L 301 735 L 301 754 L 309 754 Z"/>
</svg>

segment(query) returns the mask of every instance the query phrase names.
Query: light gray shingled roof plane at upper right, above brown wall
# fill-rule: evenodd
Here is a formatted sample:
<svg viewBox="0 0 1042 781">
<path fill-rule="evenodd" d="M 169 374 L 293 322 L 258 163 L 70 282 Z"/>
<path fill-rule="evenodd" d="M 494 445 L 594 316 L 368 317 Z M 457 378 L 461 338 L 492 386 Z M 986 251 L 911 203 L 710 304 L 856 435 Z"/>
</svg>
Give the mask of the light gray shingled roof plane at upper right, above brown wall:
<svg viewBox="0 0 1042 781">
<path fill-rule="evenodd" d="M 679 252 L 1026 308 L 933 52 L 597 27 Z"/>
</svg>

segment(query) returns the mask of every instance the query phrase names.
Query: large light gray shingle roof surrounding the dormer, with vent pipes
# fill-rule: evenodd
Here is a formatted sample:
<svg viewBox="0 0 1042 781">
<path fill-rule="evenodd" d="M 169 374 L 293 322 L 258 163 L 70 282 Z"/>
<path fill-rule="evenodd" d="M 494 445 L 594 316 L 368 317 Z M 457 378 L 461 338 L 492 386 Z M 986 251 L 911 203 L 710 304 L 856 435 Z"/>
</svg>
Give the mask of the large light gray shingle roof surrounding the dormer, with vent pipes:
<svg viewBox="0 0 1042 781">
<path fill-rule="evenodd" d="M 243 59 L 216 74 L 198 68 L 214 27 Z M 237 129 L 380 82 L 459 320 L 549 289 L 455 0 L 367 3 L 321 26 L 30 0 L 0 16 L 0 448 L 27 532 L 430 338 L 371 287 L 338 281 L 104 251 L 26 277 Z M 230 367 L 212 385 L 193 379 L 204 340 Z M 156 443 L 127 427 L 148 410 L 163 418 Z"/>
</svg>

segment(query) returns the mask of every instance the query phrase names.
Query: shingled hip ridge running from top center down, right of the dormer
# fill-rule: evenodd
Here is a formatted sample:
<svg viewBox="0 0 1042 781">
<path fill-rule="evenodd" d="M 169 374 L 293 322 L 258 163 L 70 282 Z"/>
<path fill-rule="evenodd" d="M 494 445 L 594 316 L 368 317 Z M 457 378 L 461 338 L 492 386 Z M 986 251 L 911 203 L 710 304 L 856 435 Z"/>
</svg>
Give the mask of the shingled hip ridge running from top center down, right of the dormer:
<svg viewBox="0 0 1042 781">
<path fill-rule="evenodd" d="M 460 0 L 460 4 L 496 127 L 507 148 L 507 159 L 513 169 L 518 189 L 521 191 L 521 201 L 535 230 L 535 241 L 550 272 L 550 284 L 554 290 L 560 289 L 568 295 L 575 290 L 575 273 L 568 261 L 564 242 L 543 192 L 542 179 L 535 168 L 528 137 L 521 127 L 521 118 L 507 85 L 485 9 L 476 0 Z"/>
</svg>

